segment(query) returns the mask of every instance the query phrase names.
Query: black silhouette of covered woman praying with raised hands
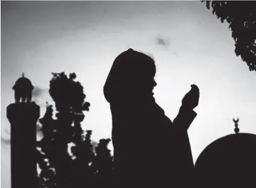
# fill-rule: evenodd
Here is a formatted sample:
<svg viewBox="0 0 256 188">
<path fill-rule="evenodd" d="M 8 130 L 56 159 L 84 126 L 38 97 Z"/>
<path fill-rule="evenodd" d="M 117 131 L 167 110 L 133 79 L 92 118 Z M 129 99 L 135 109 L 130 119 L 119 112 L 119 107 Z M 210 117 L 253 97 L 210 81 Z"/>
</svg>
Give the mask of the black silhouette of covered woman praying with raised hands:
<svg viewBox="0 0 256 188">
<path fill-rule="evenodd" d="M 187 128 L 199 89 L 191 85 L 173 122 L 156 104 L 153 58 L 132 50 L 118 55 L 104 94 L 112 114 L 116 186 L 187 187 L 194 167 Z"/>
</svg>

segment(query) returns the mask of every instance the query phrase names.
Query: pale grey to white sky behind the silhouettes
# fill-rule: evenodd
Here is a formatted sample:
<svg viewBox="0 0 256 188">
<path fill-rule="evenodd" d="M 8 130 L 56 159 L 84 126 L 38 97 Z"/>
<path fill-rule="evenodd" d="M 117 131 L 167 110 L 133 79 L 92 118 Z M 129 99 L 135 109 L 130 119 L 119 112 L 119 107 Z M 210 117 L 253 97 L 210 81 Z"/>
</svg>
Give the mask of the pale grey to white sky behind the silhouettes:
<svg viewBox="0 0 256 188">
<path fill-rule="evenodd" d="M 50 73 L 65 71 L 77 74 L 91 103 L 83 128 L 93 130 L 93 140 L 111 138 L 103 85 L 128 47 L 154 56 L 154 97 L 171 120 L 190 84 L 199 86 L 198 115 L 189 128 L 194 161 L 209 143 L 234 133 L 234 117 L 240 132 L 256 133 L 256 74 L 235 56 L 228 25 L 201 2 L 8 1 L 1 2 L 1 137 L 9 138 L 6 106 L 21 73 L 49 89 Z M 41 115 L 45 101 L 52 102 L 47 91 L 34 100 Z M 1 187 L 11 186 L 10 175 L 9 145 L 1 140 Z"/>
</svg>

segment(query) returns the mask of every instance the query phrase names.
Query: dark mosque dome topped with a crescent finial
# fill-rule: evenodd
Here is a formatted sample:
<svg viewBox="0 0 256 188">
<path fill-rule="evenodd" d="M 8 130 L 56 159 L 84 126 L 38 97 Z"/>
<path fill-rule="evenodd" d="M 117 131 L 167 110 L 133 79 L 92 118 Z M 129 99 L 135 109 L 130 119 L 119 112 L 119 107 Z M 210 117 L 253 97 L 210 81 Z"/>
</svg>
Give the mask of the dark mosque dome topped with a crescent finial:
<svg viewBox="0 0 256 188">
<path fill-rule="evenodd" d="M 256 187 L 256 135 L 226 135 L 208 145 L 195 164 L 197 187 Z"/>
</svg>

